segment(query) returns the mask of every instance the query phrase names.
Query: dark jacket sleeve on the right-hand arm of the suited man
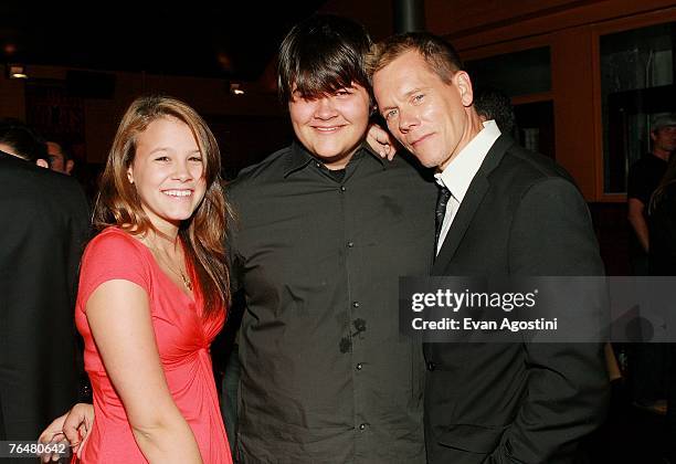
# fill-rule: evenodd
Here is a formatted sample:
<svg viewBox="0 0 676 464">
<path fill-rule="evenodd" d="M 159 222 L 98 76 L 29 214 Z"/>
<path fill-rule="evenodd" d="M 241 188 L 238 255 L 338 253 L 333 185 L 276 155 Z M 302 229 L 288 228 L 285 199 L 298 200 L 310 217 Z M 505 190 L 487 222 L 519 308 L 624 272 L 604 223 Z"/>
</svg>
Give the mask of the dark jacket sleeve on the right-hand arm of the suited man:
<svg viewBox="0 0 676 464">
<path fill-rule="evenodd" d="M 511 274 L 603 274 L 587 204 L 564 179 L 532 186 L 510 232 Z M 578 440 L 604 420 L 609 379 L 603 345 L 534 342 L 526 344 L 526 351 L 528 394 L 489 462 L 572 462 Z"/>
</svg>

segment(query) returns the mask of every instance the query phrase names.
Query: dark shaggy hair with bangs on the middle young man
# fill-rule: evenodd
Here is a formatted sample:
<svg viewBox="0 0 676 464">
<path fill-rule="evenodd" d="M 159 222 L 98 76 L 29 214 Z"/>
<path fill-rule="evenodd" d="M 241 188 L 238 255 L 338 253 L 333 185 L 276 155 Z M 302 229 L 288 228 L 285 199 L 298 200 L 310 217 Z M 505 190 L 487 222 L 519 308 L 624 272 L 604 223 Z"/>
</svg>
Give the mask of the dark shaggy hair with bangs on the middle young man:
<svg viewBox="0 0 676 464">
<path fill-rule="evenodd" d="M 314 15 L 295 25 L 282 42 L 277 85 L 283 103 L 318 98 L 359 84 L 369 94 L 365 56 L 371 46 L 366 29 L 332 14 Z"/>
</svg>

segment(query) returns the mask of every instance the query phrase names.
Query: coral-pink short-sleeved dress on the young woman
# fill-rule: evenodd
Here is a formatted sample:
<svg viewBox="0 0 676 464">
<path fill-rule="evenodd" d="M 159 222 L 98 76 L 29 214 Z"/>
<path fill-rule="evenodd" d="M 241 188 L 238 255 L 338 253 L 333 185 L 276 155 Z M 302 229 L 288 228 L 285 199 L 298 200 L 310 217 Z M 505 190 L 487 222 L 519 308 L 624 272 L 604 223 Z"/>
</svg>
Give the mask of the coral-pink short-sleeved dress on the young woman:
<svg viewBox="0 0 676 464">
<path fill-rule="evenodd" d="M 142 243 L 116 228 L 108 228 L 92 240 L 82 260 L 75 324 L 85 341 L 84 361 L 92 381 L 95 411 L 94 426 L 83 450 L 82 462 L 147 462 L 106 375 L 85 315 L 85 304 L 92 293 L 112 280 L 133 282 L 147 292 L 167 383 L 173 401 L 192 429 L 202 461 L 232 463 L 209 355 L 209 346 L 223 326 L 224 312 L 218 318 L 203 321 L 198 286 L 194 286 L 193 302 L 160 270 Z"/>
</svg>

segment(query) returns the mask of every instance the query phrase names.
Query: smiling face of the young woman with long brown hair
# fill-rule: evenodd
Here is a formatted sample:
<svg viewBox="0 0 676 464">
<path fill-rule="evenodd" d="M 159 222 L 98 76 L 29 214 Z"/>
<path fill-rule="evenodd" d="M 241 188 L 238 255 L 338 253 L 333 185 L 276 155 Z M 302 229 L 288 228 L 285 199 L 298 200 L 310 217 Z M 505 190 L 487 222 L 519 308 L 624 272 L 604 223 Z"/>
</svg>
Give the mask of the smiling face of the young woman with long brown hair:
<svg viewBox="0 0 676 464">
<path fill-rule="evenodd" d="M 162 117 L 137 136 L 127 176 L 159 230 L 178 228 L 192 215 L 207 191 L 203 175 L 202 154 L 186 123 Z"/>
</svg>

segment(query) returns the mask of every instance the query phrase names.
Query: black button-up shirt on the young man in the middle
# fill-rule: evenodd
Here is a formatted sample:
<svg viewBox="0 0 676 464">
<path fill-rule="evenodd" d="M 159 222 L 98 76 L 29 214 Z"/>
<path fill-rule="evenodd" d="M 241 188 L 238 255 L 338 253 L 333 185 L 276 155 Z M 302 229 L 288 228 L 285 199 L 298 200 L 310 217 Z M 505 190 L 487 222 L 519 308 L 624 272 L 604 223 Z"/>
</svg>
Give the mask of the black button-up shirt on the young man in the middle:
<svg viewBox="0 0 676 464">
<path fill-rule="evenodd" d="M 419 341 L 399 334 L 399 276 L 427 273 L 436 187 L 360 148 L 331 176 L 299 144 L 228 188 L 245 463 L 423 463 Z"/>
</svg>

